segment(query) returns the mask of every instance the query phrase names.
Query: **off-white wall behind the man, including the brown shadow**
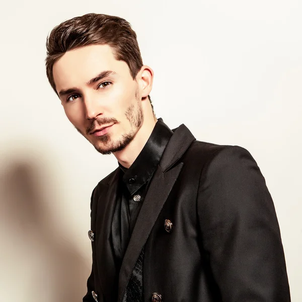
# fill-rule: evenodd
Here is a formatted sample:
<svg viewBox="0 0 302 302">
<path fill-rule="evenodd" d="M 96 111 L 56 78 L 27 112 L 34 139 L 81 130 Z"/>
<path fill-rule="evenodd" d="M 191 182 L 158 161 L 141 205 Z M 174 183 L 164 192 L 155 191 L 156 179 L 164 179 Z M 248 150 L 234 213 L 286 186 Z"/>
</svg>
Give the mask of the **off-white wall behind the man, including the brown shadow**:
<svg viewBox="0 0 302 302">
<path fill-rule="evenodd" d="M 45 41 L 90 12 L 128 20 L 155 71 L 158 117 L 246 147 L 273 196 L 292 301 L 301 301 L 300 0 L 1 4 L 0 300 L 80 301 L 91 266 L 90 195 L 115 169 L 74 130 L 45 75 Z"/>
</svg>

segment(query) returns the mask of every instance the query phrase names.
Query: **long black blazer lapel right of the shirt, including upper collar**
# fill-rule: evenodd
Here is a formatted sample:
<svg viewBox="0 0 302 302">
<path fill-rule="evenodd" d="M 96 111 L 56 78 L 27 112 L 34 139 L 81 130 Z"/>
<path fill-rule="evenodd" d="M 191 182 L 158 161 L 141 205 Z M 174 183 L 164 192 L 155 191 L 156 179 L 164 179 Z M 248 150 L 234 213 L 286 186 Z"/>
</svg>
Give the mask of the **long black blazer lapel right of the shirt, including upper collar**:
<svg viewBox="0 0 302 302">
<path fill-rule="evenodd" d="M 185 125 L 179 126 L 165 149 L 137 217 L 119 274 L 118 301 L 122 301 L 136 260 L 178 178 L 178 162 L 195 137 Z"/>
</svg>

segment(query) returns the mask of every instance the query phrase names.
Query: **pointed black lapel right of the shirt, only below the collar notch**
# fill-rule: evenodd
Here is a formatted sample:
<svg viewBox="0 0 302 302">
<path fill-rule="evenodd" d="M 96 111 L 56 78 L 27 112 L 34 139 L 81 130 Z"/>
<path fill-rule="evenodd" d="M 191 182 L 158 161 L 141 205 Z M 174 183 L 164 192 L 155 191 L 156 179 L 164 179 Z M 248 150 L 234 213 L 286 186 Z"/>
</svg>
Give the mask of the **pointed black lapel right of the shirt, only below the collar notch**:
<svg viewBox="0 0 302 302">
<path fill-rule="evenodd" d="M 159 167 L 154 175 L 147 195 L 137 217 L 128 248 L 126 250 L 120 275 L 118 301 L 121 301 L 136 260 L 177 180 L 183 163 L 163 173 Z"/>
</svg>

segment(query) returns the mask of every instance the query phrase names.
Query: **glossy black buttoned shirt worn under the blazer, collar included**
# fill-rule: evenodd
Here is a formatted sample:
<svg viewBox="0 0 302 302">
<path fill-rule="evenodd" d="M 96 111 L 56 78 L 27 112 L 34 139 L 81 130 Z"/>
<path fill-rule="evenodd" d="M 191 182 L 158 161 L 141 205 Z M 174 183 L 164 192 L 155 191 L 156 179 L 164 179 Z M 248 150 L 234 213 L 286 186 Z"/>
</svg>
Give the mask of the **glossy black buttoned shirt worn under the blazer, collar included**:
<svg viewBox="0 0 302 302">
<path fill-rule="evenodd" d="M 156 171 L 173 132 L 158 119 L 155 127 L 129 169 L 119 164 L 119 196 L 112 221 L 112 244 L 118 272 L 150 180 Z"/>
</svg>

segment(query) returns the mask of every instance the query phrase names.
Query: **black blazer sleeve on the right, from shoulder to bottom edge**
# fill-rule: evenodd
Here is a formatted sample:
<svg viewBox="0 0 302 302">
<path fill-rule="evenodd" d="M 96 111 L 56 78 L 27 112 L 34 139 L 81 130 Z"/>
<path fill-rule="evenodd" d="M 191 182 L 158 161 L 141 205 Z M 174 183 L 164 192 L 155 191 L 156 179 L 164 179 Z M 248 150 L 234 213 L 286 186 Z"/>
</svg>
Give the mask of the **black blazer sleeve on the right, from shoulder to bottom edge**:
<svg viewBox="0 0 302 302">
<path fill-rule="evenodd" d="M 220 299 L 289 302 L 274 204 L 250 153 L 238 146 L 216 152 L 201 173 L 197 202 Z"/>
</svg>

